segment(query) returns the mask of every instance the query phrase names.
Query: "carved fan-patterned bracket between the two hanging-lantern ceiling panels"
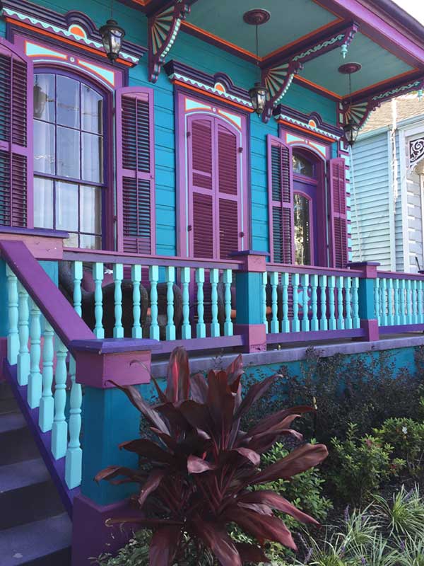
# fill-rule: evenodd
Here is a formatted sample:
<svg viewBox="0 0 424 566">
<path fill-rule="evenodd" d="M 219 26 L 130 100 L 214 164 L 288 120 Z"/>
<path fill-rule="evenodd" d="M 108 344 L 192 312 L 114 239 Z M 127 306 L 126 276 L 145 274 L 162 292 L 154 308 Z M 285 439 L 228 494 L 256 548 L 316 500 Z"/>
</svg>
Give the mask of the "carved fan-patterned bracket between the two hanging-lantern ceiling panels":
<svg viewBox="0 0 424 566">
<path fill-rule="evenodd" d="M 274 108 L 288 91 L 295 74 L 302 70 L 304 63 L 338 47 L 343 47 L 342 52 L 346 54 L 346 50 L 351 45 L 358 28 L 359 25 L 357 23 L 351 23 L 348 27 L 342 28 L 331 35 L 315 38 L 313 42 L 306 44 L 301 51 L 295 52 L 291 57 L 287 58 L 284 54 L 281 54 L 281 62 L 262 69 L 262 81 L 270 93 L 266 109 L 262 114 L 262 120 L 264 122 L 269 121 Z"/>
</svg>

